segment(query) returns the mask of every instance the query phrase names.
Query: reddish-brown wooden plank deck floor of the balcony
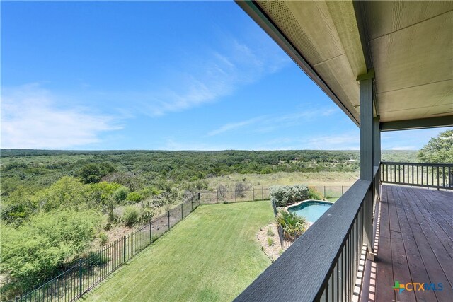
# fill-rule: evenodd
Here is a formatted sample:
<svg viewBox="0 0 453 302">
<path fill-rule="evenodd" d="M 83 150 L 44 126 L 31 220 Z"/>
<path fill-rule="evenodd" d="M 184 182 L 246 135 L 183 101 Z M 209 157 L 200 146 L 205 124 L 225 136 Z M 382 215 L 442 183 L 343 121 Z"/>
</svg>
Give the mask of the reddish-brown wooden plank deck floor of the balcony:
<svg viewBox="0 0 453 302">
<path fill-rule="evenodd" d="M 453 192 L 382 186 L 375 262 L 367 261 L 361 301 L 453 301 Z M 395 291 L 399 284 L 436 289 Z M 408 289 L 412 289 L 409 286 Z"/>
</svg>

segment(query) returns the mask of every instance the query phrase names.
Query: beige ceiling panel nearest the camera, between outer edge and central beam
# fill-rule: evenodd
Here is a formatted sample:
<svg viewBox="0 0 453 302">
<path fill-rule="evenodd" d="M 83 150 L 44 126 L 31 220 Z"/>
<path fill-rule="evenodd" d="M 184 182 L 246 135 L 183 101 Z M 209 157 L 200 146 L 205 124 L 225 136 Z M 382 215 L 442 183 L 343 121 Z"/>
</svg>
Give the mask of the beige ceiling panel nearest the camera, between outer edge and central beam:
<svg viewBox="0 0 453 302">
<path fill-rule="evenodd" d="M 310 64 L 344 54 L 324 1 L 258 1 Z"/>
</svg>

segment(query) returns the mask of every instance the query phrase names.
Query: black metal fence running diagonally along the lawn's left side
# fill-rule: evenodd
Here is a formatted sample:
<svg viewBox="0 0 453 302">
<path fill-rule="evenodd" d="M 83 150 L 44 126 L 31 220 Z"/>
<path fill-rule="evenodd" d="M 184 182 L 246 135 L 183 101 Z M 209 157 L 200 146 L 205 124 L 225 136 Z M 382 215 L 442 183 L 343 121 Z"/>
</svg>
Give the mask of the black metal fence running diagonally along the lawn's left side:
<svg viewBox="0 0 453 302">
<path fill-rule="evenodd" d="M 69 269 L 14 301 L 75 301 L 116 269 L 183 220 L 200 205 L 200 194 L 149 221 L 96 252 L 89 252 Z"/>
</svg>

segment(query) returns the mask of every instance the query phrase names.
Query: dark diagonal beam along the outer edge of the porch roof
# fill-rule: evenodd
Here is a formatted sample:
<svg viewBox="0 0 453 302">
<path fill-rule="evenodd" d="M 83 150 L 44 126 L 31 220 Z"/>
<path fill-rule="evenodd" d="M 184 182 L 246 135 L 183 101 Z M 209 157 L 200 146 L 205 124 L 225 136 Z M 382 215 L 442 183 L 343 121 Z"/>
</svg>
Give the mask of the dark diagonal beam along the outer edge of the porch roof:
<svg viewBox="0 0 453 302">
<path fill-rule="evenodd" d="M 306 59 L 304 59 L 304 56 L 297 51 L 296 47 L 292 45 L 292 42 L 289 41 L 289 39 L 286 37 L 284 33 L 275 25 L 275 23 L 272 21 L 272 19 L 268 16 L 265 11 L 263 11 L 262 8 L 260 8 L 259 4 L 256 1 L 241 1 L 241 0 L 235 0 L 236 4 L 238 4 L 243 11 L 245 11 L 248 16 L 250 16 L 253 21 L 255 21 L 258 25 L 260 25 L 261 28 L 270 35 L 270 37 L 273 38 L 275 42 L 277 42 L 277 45 L 282 47 L 282 50 L 284 50 L 289 57 L 302 69 L 302 71 L 305 72 L 307 76 L 311 80 L 313 80 L 316 85 L 321 88 L 324 93 L 328 95 L 331 100 L 333 100 L 333 103 L 336 103 L 338 107 L 340 107 L 343 112 L 350 117 L 352 122 L 354 122 L 357 126 L 359 126 L 359 121 L 357 121 L 352 115 L 352 113 L 348 110 L 348 108 L 343 105 L 341 100 L 338 98 L 338 96 L 331 90 L 331 88 L 327 85 L 323 79 L 321 79 L 321 76 L 316 73 L 314 68 L 306 62 Z"/>
</svg>

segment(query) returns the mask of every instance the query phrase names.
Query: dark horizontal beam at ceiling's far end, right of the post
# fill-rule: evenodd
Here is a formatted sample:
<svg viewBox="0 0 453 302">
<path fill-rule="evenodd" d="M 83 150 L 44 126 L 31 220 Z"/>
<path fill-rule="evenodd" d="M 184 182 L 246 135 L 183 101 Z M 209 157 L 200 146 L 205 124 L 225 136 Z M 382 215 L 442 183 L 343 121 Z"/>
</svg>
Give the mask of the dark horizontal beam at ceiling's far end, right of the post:
<svg viewBox="0 0 453 302">
<path fill-rule="evenodd" d="M 379 127 L 381 131 L 396 131 L 408 129 L 424 129 L 435 127 L 452 127 L 453 116 L 447 115 L 444 117 L 428 117 L 425 119 L 417 120 L 401 120 L 394 122 L 381 122 Z"/>
</svg>

